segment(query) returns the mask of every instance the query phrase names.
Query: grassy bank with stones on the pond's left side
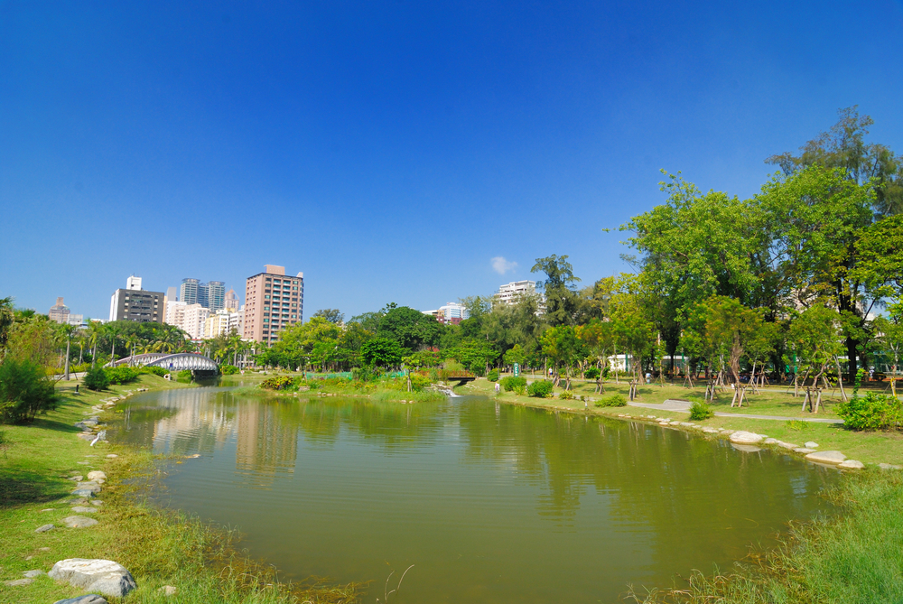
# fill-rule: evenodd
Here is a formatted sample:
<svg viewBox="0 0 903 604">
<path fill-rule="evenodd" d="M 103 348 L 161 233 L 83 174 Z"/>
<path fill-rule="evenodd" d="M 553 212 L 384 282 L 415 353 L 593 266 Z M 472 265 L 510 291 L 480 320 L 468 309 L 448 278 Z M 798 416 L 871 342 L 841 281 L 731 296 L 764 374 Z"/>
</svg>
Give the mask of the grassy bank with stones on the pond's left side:
<svg viewBox="0 0 903 604">
<path fill-rule="evenodd" d="M 74 382 L 61 383 L 66 395 L 61 408 L 40 417 L 32 425 L 0 426 L 4 432 L 0 451 L 0 580 L 22 578 L 23 571 L 50 571 L 54 562 L 65 558 L 107 558 L 126 566 L 135 576 L 138 589 L 128 595 L 135 604 L 163 602 L 157 590 L 168 584 L 179 589 L 179 602 L 252 603 L 294 601 L 355 601 L 353 586 L 330 589 L 287 590 L 274 588 L 271 570 L 237 556 L 228 535 L 192 521 L 185 516 L 145 505 L 137 479 L 153 478 L 150 451 L 134 451 L 98 444 L 91 448 L 76 436 L 72 423 L 85 417 L 91 404 L 107 393 L 81 389 L 74 395 Z M 186 387 L 157 376 L 141 376 L 128 386 L 113 386 L 113 393 L 138 387 L 154 389 Z M 109 452 L 119 457 L 107 459 Z M 88 461 L 88 465 L 79 464 Z M 69 497 L 73 483 L 66 479 L 90 469 L 107 473 L 107 484 L 98 498 L 104 505 L 93 517 L 99 524 L 70 529 L 61 519 L 74 515 L 61 503 Z M 50 510 L 50 511 L 42 511 Z M 40 525 L 58 528 L 35 534 Z M 49 548 L 42 551 L 41 548 Z M 30 559 L 29 559 L 30 558 Z M 270 583 L 267 587 L 266 583 Z M 310 586 L 307 586 L 310 587 Z M 81 595 L 82 590 L 58 584 L 47 577 L 26 587 L 6 587 L 0 583 L 0 601 L 52 602 Z"/>
</svg>

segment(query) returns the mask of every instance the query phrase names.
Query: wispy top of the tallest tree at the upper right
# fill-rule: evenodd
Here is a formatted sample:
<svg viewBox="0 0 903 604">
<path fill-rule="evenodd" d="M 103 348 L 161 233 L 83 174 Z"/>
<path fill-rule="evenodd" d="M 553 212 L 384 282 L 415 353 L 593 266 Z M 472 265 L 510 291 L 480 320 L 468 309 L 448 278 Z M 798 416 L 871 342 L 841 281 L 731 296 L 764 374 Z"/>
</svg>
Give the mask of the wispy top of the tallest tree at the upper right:
<svg viewBox="0 0 903 604">
<path fill-rule="evenodd" d="M 799 155 L 780 153 L 765 163 L 780 166 L 787 175 L 812 166 L 841 168 L 845 177 L 859 185 L 874 186 L 874 209 L 882 216 L 903 211 L 903 163 L 883 144 L 865 142 L 870 116 L 860 116 L 858 106 L 837 111 L 839 119 L 827 132 L 799 148 Z"/>
</svg>

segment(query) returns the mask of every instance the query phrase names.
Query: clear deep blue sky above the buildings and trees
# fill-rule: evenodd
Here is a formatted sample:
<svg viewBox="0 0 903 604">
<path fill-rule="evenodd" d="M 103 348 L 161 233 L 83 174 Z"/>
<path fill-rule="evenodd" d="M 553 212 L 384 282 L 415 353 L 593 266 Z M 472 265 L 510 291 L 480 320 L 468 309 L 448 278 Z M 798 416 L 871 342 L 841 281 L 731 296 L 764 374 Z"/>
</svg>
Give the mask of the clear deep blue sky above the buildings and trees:
<svg viewBox="0 0 903 604">
<path fill-rule="evenodd" d="M 0 296 L 106 318 L 129 274 L 275 264 L 350 316 L 550 254 L 591 283 L 659 169 L 749 197 L 855 104 L 903 152 L 901 33 L 898 1 L 0 0 Z"/>
</svg>

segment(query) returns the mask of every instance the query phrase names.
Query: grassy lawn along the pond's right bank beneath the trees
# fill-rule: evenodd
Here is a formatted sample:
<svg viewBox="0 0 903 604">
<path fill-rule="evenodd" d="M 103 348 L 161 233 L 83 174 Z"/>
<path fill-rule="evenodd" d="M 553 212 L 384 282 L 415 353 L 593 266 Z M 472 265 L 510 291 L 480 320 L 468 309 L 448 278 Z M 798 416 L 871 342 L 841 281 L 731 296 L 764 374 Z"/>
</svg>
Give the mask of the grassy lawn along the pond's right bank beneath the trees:
<svg viewBox="0 0 903 604">
<path fill-rule="evenodd" d="M 527 379 L 530 379 L 527 376 Z M 598 399 L 599 395 L 593 395 L 594 384 L 591 382 L 573 381 L 573 392 L 576 395 L 590 396 L 593 400 Z M 483 394 L 492 395 L 494 384 L 485 380 L 478 379 L 471 385 L 456 388 L 456 392 L 460 394 Z M 883 387 L 883 386 L 881 386 Z M 742 414 L 761 414 L 761 415 L 780 415 L 793 419 L 797 417 L 833 417 L 833 409 L 836 401 L 829 401 L 827 411 L 820 412 L 817 415 L 809 414 L 800 410 L 803 402 L 802 397 L 794 398 L 793 393 L 785 394 L 787 387 L 769 388 L 762 395 L 752 395 L 749 400 L 749 407 L 744 406 L 742 410 L 736 407 L 731 409 L 731 395 L 721 395 L 720 400 L 712 405 L 715 411 Z M 880 390 L 879 390 L 880 391 Z M 558 392 L 558 390 L 556 390 Z M 730 392 L 730 389 L 729 389 Z M 615 385 L 612 382 L 605 384 L 605 395 L 619 393 L 627 396 L 628 385 L 621 383 Z M 638 403 L 662 403 L 668 398 L 686 399 L 687 396 L 696 395 L 703 396 L 702 388 L 684 388 L 682 386 L 666 385 L 660 387 L 657 385 L 641 386 L 639 388 Z M 502 392 L 498 395 L 498 400 L 511 404 L 526 404 L 538 407 L 557 407 L 573 411 L 584 411 L 584 403 L 579 400 L 563 401 L 558 398 L 532 398 L 529 396 L 519 396 L 513 393 Z M 667 415 L 668 417 L 686 421 L 687 414 L 671 413 L 665 414 L 656 412 L 651 409 L 643 409 L 642 407 L 608 407 L 597 409 L 590 404 L 589 413 L 614 415 L 631 414 L 634 416 L 641 414 L 658 414 Z M 714 428 L 726 428 L 731 430 L 748 430 L 749 432 L 757 432 L 759 434 L 767 434 L 781 441 L 795 442 L 802 446 L 805 441 L 815 441 L 819 444 L 821 451 L 842 451 L 847 457 L 860 460 L 863 463 L 895 463 L 903 464 L 903 435 L 898 432 L 854 432 L 847 430 L 841 424 L 826 423 L 806 423 L 802 430 L 796 429 L 796 424 L 791 427 L 787 422 L 774 420 L 755 420 L 741 417 L 713 417 L 700 423 L 703 426 L 712 426 Z"/>
</svg>

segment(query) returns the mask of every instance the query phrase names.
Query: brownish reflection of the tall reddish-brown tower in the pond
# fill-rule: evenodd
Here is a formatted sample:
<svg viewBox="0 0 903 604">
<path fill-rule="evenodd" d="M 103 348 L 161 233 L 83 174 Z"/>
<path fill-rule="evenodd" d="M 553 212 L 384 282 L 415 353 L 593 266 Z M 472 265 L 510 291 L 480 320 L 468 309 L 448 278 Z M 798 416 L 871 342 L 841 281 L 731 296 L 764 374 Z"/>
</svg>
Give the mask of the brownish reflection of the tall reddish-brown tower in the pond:
<svg viewBox="0 0 903 604">
<path fill-rule="evenodd" d="M 292 422 L 281 422 L 279 404 L 240 404 L 235 465 L 257 477 L 292 473 L 298 435 Z"/>
</svg>

